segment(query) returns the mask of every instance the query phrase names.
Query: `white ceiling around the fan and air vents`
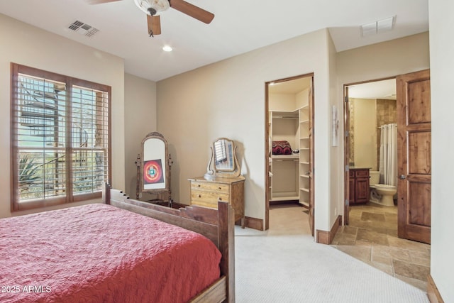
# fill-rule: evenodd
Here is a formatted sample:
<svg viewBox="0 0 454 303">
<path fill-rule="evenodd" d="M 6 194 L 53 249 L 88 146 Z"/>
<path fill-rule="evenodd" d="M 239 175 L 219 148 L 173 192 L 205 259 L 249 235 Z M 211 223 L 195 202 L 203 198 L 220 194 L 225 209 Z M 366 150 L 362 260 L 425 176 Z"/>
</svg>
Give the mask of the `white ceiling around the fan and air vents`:
<svg viewBox="0 0 454 303">
<path fill-rule="evenodd" d="M 321 28 L 329 28 L 337 51 L 428 31 L 428 0 L 187 1 L 214 13 L 214 20 L 207 25 L 170 8 L 154 38 L 133 0 L 0 0 L 0 13 L 123 57 L 126 72 L 153 81 Z M 360 25 L 391 16 L 392 31 L 362 38 Z M 99 33 L 89 38 L 70 31 L 77 20 Z M 165 44 L 172 53 L 162 50 Z"/>
</svg>

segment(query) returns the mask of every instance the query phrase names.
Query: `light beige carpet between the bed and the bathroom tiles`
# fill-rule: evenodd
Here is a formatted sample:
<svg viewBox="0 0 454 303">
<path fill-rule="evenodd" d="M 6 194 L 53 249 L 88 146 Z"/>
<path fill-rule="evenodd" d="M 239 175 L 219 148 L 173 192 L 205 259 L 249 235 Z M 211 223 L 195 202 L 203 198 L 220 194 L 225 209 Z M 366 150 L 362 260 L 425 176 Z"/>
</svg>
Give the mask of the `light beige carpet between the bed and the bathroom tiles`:
<svg viewBox="0 0 454 303">
<path fill-rule="evenodd" d="M 301 207 L 270 210 L 270 231 L 236 226 L 236 302 L 428 302 L 426 293 L 315 243 Z"/>
</svg>

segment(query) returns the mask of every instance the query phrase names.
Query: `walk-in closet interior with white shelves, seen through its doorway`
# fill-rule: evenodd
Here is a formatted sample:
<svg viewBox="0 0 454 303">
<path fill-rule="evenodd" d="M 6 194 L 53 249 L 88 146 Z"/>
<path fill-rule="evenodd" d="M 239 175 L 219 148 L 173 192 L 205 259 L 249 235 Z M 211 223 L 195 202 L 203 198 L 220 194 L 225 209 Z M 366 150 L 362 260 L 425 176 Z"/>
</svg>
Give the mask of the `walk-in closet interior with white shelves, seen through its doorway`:
<svg viewBox="0 0 454 303">
<path fill-rule="evenodd" d="M 269 94 L 269 197 L 270 202 L 295 201 L 309 208 L 311 199 L 311 121 L 307 79 L 292 82 Z M 306 82 L 304 82 L 306 81 Z M 301 90 L 293 84 L 301 85 Z M 288 89 L 286 91 L 285 89 Z M 272 141 L 289 141 L 292 155 L 272 155 Z"/>
</svg>

